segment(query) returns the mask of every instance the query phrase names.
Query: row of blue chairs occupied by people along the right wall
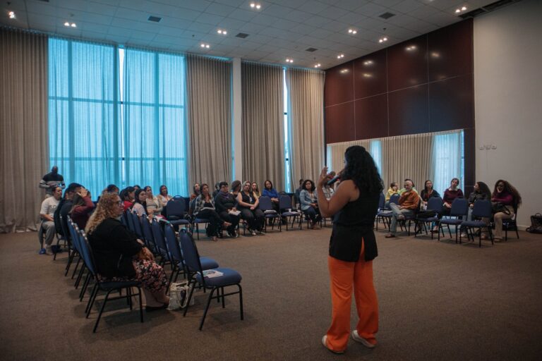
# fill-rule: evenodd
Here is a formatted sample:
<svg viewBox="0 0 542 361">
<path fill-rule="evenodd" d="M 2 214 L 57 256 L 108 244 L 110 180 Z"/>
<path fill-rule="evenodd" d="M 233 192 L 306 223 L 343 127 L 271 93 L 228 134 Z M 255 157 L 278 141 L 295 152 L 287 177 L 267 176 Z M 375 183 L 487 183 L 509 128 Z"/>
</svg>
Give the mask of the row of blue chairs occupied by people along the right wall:
<svg viewBox="0 0 542 361">
<path fill-rule="evenodd" d="M 390 197 L 390 204 L 395 203 L 399 204 L 399 195 L 392 195 Z M 474 230 L 478 230 L 478 247 L 481 247 L 481 233 L 483 228 L 486 228 L 488 231 L 488 234 L 490 236 L 491 244 L 493 245 L 493 233 L 491 231 L 493 224 L 486 223 L 486 221 L 483 221 L 483 219 L 491 219 L 493 216 L 492 212 L 492 206 L 491 202 L 489 200 L 478 200 L 474 203 L 474 207 L 472 209 L 472 221 L 467 221 L 466 217 L 469 214 L 469 202 L 466 200 L 466 198 L 456 198 L 454 202 L 452 202 L 452 207 L 450 208 L 450 214 L 447 215 L 446 218 L 441 218 L 439 220 L 439 215 L 442 215 L 442 198 L 440 197 L 430 197 L 427 203 L 427 212 L 424 212 L 423 214 L 418 212 L 418 209 L 416 212 L 414 212 L 411 216 L 406 216 L 404 219 L 404 226 L 408 230 L 408 234 L 410 235 L 410 227 L 411 224 L 414 223 L 414 237 L 418 233 L 422 232 L 422 229 L 428 233 L 428 228 L 430 228 L 431 224 L 438 224 L 438 240 L 440 241 L 440 233 L 442 233 L 442 236 L 445 235 L 444 233 L 444 226 L 447 227 L 448 233 L 450 234 L 450 238 L 452 238 L 452 231 L 450 229 L 450 226 L 455 227 L 455 242 L 458 242 L 458 234 L 459 234 L 459 243 L 462 243 L 462 235 L 461 232 L 458 232 L 459 230 L 464 230 L 466 232 L 467 237 L 469 240 L 472 240 L 474 242 L 474 236 L 475 232 Z M 390 228 L 391 223 L 391 217 L 392 212 L 391 210 L 385 209 L 385 198 L 384 195 L 380 195 L 380 202 L 378 207 L 378 212 L 376 216 L 376 229 L 378 231 L 378 224 L 382 222 L 385 227 L 388 229 Z M 519 233 L 517 230 L 517 224 L 516 224 L 516 218 L 517 218 L 517 211 L 514 212 L 514 217 L 512 219 L 507 219 L 503 222 L 502 228 L 505 231 L 505 240 L 508 239 L 508 231 L 516 231 L 517 238 L 519 239 Z M 408 223 L 407 223 L 408 222 Z M 403 226 L 403 224 L 401 224 Z M 433 232 L 431 232 L 431 239 L 433 239 Z"/>
</svg>

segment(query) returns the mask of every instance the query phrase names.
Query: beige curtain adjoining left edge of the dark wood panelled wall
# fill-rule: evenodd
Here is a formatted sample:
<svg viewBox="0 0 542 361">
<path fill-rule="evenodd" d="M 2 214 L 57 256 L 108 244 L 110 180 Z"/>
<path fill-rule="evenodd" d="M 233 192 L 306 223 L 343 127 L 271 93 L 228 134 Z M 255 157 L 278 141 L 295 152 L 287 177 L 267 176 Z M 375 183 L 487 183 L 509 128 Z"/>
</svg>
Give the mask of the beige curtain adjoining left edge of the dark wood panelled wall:
<svg viewBox="0 0 542 361">
<path fill-rule="evenodd" d="M 324 80 L 323 71 L 289 68 L 286 72 L 292 190 L 301 178 L 318 178 L 324 165 Z"/>
</svg>

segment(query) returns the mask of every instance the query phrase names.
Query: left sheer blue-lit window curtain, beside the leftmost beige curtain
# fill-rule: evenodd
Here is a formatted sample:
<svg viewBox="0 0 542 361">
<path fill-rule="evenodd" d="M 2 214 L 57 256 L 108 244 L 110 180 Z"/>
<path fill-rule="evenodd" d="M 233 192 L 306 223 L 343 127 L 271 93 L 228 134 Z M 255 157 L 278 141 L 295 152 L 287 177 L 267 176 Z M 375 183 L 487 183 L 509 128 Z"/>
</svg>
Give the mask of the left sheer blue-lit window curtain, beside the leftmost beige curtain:
<svg viewBox="0 0 542 361">
<path fill-rule="evenodd" d="M 95 198 L 119 184 L 117 49 L 49 39 L 49 161 Z"/>
</svg>

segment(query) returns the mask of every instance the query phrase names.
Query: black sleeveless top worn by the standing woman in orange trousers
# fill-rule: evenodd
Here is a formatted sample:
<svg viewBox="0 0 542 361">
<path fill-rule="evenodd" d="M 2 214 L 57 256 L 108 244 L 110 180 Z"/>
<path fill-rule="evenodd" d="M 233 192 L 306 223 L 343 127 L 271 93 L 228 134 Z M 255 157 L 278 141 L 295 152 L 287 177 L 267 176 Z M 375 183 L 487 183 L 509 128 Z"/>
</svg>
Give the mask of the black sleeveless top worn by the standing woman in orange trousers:
<svg viewBox="0 0 542 361">
<path fill-rule="evenodd" d="M 373 225 L 380 195 L 363 195 L 348 202 L 333 217 L 330 238 L 330 256 L 346 262 L 357 262 L 361 252 L 361 240 L 365 243 L 366 261 L 378 256 Z"/>
</svg>

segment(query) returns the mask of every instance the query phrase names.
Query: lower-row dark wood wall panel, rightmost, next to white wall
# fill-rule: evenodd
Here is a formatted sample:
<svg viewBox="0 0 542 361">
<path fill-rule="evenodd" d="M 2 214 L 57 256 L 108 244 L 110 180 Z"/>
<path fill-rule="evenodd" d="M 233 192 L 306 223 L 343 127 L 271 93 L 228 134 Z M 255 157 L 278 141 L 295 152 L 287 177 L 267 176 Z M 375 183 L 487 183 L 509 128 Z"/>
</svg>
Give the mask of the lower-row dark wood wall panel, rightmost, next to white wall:
<svg viewBox="0 0 542 361">
<path fill-rule="evenodd" d="M 472 74 L 429 83 L 430 131 L 474 128 Z"/>
</svg>

